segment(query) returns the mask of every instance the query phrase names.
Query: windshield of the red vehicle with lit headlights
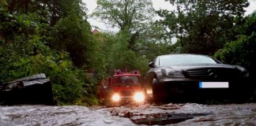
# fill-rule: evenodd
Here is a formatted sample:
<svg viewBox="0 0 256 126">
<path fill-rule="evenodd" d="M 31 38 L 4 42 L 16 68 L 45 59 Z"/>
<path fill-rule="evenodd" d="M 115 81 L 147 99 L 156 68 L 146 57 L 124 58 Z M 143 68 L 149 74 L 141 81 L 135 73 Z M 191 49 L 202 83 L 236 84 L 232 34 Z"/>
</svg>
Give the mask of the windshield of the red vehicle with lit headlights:
<svg viewBox="0 0 256 126">
<path fill-rule="evenodd" d="M 126 86 L 139 84 L 139 76 L 115 76 L 111 79 L 114 86 Z"/>
</svg>

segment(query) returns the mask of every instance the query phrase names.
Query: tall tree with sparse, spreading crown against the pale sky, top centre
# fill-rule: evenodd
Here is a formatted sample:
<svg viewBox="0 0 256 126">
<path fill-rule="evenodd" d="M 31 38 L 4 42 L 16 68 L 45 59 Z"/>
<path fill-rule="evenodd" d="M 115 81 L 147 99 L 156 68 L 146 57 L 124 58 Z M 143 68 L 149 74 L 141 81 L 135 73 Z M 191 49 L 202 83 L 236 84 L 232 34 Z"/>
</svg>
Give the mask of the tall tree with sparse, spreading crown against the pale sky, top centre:
<svg viewBox="0 0 256 126">
<path fill-rule="evenodd" d="M 148 37 L 155 15 L 151 0 L 97 0 L 97 5 L 92 17 L 127 31 L 128 49 L 137 50 L 137 43 Z"/>
</svg>

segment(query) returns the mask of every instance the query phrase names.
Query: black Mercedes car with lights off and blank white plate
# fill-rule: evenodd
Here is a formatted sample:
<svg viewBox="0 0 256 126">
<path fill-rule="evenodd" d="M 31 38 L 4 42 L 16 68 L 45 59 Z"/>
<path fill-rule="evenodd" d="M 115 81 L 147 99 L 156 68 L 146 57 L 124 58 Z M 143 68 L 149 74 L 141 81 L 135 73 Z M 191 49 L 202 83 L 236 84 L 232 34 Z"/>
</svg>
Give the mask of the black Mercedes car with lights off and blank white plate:
<svg viewBox="0 0 256 126">
<path fill-rule="evenodd" d="M 241 94 L 247 87 L 249 73 L 239 65 L 226 65 L 202 54 L 160 55 L 149 63 L 145 91 L 155 101 L 175 98 L 180 94 L 208 97 L 223 91 Z M 212 91 L 212 92 L 211 92 Z M 208 93 L 202 95 L 202 92 Z"/>
</svg>

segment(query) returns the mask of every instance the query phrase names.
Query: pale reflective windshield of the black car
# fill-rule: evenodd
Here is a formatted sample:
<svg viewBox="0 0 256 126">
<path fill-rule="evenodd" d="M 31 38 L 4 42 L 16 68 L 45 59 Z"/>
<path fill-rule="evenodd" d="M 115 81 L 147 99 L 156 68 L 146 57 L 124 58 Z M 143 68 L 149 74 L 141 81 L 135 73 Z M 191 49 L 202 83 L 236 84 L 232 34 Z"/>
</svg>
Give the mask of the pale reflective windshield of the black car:
<svg viewBox="0 0 256 126">
<path fill-rule="evenodd" d="M 160 56 L 159 64 L 163 66 L 169 65 L 190 65 L 190 64 L 217 64 L 212 57 L 204 55 L 177 54 Z"/>
</svg>

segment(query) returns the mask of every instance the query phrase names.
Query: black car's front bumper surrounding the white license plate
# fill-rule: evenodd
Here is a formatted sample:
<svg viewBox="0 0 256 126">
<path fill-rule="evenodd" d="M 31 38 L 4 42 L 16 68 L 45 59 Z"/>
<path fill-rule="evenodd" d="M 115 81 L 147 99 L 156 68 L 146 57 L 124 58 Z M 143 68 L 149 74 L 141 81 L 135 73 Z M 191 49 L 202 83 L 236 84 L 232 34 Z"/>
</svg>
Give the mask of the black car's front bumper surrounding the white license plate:
<svg viewBox="0 0 256 126">
<path fill-rule="evenodd" d="M 201 88 L 200 82 L 220 82 L 228 83 L 228 87 L 211 87 Z M 239 91 L 239 93 L 246 93 L 246 89 L 250 89 L 251 83 L 245 79 L 239 80 L 191 80 L 188 78 L 167 78 L 159 80 L 155 86 L 160 90 L 168 91 L 169 94 L 227 94 L 229 91 Z"/>
</svg>

